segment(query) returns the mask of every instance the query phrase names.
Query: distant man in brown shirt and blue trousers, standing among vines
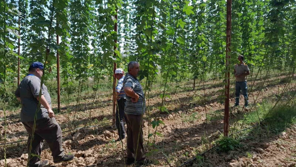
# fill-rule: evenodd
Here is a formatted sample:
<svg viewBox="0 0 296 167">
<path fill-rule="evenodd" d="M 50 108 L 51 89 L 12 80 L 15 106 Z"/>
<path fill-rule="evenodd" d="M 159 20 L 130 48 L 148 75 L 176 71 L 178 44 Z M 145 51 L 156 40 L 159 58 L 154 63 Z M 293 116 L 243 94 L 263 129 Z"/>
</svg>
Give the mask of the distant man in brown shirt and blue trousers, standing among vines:
<svg viewBox="0 0 296 167">
<path fill-rule="evenodd" d="M 250 75 L 249 67 L 246 63 L 244 63 L 244 56 L 239 55 L 237 60 L 238 64 L 235 65 L 234 68 L 234 76 L 235 76 L 235 105 L 239 105 L 239 94 L 242 90 L 242 95 L 244 96 L 244 106 L 248 106 L 248 87 L 247 87 L 247 75 Z"/>
</svg>

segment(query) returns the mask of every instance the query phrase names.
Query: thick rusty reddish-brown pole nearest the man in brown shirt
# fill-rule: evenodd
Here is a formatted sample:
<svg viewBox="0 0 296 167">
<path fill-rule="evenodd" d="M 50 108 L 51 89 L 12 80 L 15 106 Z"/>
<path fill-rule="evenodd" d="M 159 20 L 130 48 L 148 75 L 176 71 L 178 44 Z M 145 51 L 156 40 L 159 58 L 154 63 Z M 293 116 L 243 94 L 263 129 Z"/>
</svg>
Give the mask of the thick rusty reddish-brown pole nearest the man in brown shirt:
<svg viewBox="0 0 296 167">
<path fill-rule="evenodd" d="M 225 106 L 224 106 L 224 136 L 228 136 L 229 132 L 229 61 L 230 61 L 230 44 L 231 44 L 231 0 L 227 0 L 227 15 L 226 15 L 226 74 L 225 74 Z"/>
</svg>

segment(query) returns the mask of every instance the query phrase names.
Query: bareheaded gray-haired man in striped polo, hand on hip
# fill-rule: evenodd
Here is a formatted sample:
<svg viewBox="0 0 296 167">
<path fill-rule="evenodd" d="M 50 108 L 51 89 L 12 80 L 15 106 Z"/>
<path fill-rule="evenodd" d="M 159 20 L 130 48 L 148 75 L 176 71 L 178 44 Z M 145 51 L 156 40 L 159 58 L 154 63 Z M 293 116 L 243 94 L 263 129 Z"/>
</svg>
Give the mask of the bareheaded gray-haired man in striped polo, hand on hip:
<svg viewBox="0 0 296 167">
<path fill-rule="evenodd" d="M 144 155 L 143 146 L 143 114 L 145 112 L 145 99 L 142 86 L 137 79 L 140 71 L 139 63 L 131 61 L 128 63 L 128 74 L 123 80 L 126 93 L 126 115 L 127 125 L 127 164 L 132 164 L 135 159 L 137 164 L 151 163 Z"/>
</svg>

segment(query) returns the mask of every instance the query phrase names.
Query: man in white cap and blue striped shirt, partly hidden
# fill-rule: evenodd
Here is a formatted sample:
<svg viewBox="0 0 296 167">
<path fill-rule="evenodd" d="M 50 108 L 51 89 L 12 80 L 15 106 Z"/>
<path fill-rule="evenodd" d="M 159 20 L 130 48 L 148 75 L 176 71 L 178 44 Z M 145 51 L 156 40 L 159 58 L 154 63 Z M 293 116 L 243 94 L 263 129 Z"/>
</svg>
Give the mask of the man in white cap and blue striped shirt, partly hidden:
<svg viewBox="0 0 296 167">
<path fill-rule="evenodd" d="M 117 105 L 116 105 L 116 114 L 115 114 L 115 125 L 118 131 L 118 139 L 120 141 L 126 137 L 124 130 L 123 118 L 124 118 L 124 106 L 126 104 L 126 94 L 124 93 L 123 88 L 123 79 L 124 71 L 122 69 L 115 70 L 115 77 L 118 79 L 117 86 L 115 88 L 117 95 Z"/>
</svg>

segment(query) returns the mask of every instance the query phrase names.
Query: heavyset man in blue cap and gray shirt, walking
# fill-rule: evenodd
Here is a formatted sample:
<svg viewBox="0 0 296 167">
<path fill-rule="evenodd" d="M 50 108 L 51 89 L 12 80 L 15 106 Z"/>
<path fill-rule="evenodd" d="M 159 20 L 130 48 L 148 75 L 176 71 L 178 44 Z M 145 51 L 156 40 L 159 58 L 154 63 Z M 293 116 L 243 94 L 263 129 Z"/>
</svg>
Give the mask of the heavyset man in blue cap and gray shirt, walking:
<svg viewBox="0 0 296 167">
<path fill-rule="evenodd" d="M 47 87 L 43 84 L 40 88 L 43 70 L 44 66 L 42 63 L 32 63 L 29 67 L 29 74 L 22 80 L 15 91 L 15 96 L 22 104 L 20 121 L 29 133 L 27 149 L 30 167 L 48 165 L 47 160 L 41 162 L 38 157 L 41 155 L 43 140 L 46 141 L 52 151 L 54 163 L 67 162 L 74 159 L 73 155 L 65 155 L 64 149 L 62 148 L 62 130 L 54 118 L 51 98 Z M 39 94 L 40 89 L 41 96 Z M 40 101 L 40 107 L 38 107 L 38 101 Z M 35 115 L 37 117 L 36 128 L 34 131 L 34 139 L 31 142 Z"/>
</svg>

